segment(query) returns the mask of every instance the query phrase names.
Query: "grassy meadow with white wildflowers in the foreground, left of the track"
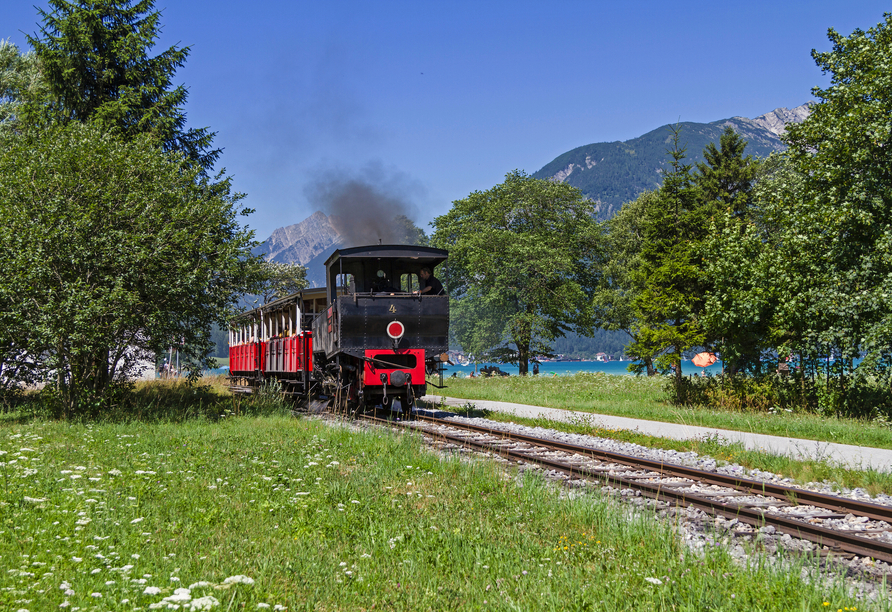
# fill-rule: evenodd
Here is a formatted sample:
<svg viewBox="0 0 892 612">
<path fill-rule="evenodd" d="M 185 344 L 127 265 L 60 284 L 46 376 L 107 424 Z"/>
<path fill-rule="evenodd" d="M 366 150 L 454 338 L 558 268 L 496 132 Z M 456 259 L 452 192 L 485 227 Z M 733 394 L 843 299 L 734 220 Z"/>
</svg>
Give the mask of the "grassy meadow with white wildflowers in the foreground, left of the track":
<svg viewBox="0 0 892 612">
<path fill-rule="evenodd" d="M 202 401 L 0 420 L 0 609 L 870 609 L 412 435 Z"/>
</svg>

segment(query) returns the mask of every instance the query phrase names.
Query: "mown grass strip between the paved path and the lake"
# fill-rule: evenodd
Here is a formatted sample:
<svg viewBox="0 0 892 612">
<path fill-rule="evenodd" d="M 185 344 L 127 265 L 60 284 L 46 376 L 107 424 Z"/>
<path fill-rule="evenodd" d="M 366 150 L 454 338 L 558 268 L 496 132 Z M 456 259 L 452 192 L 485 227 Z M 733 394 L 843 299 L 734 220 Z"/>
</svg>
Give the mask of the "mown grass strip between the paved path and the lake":
<svg viewBox="0 0 892 612">
<path fill-rule="evenodd" d="M 430 392 L 469 400 L 515 402 L 666 423 L 892 448 L 892 427 L 888 423 L 785 410 L 771 413 L 673 406 L 666 401 L 666 378 L 661 376 L 648 378 L 579 373 L 555 377 L 448 378 L 445 384 L 446 389 L 430 389 Z"/>
</svg>

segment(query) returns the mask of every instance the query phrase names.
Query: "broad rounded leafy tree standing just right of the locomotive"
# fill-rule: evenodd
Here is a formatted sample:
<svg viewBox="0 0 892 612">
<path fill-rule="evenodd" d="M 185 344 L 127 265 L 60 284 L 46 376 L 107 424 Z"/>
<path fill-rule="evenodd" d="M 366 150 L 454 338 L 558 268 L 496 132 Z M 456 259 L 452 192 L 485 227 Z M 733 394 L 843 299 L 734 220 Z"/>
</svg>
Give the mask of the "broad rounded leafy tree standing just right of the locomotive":
<svg viewBox="0 0 892 612">
<path fill-rule="evenodd" d="M 434 220 L 465 350 L 489 344 L 525 375 L 555 338 L 591 328 L 601 263 L 594 212 L 578 189 L 515 170 Z"/>
</svg>

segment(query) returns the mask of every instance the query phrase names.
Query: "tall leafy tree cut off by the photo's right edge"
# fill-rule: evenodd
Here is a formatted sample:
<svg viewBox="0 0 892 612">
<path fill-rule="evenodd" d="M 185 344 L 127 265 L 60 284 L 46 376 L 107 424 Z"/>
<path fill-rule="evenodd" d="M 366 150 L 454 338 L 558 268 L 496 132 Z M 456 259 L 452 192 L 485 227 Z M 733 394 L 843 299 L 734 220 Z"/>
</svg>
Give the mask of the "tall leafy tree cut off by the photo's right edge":
<svg viewBox="0 0 892 612">
<path fill-rule="evenodd" d="M 833 347 L 844 359 L 890 365 L 892 346 L 892 14 L 850 36 L 829 30 L 832 51 L 812 57 L 831 78 L 819 100 L 786 135 L 803 181 L 792 217 L 807 224 L 804 248 L 820 254 L 809 293 L 821 317 L 809 332 L 813 348 Z M 816 308 L 815 310 L 817 310 Z"/>
</svg>

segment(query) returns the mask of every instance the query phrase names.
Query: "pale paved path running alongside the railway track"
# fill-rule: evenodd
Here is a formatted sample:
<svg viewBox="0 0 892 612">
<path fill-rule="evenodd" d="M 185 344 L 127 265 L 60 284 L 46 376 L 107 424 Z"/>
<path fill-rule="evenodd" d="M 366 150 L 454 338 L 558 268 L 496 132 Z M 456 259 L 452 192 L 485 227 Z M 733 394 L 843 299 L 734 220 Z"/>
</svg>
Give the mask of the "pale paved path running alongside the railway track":
<svg viewBox="0 0 892 612">
<path fill-rule="evenodd" d="M 441 396 L 426 395 L 421 399 L 425 401 L 427 405 L 435 406 L 440 403 Z M 721 436 L 729 442 L 740 442 L 749 450 L 761 450 L 776 455 L 790 456 L 796 459 L 820 459 L 840 463 L 855 469 L 867 469 L 872 467 L 881 471 L 892 471 L 892 450 L 882 448 L 853 446 L 851 444 L 834 444 L 832 442 L 816 442 L 814 440 L 785 438 L 781 436 L 766 436 L 764 434 L 753 434 L 743 431 L 732 431 L 729 429 L 715 429 L 712 427 L 679 425 L 677 423 L 644 421 L 627 417 L 560 410 L 558 408 L 543 408 L 541 406 L 527 406 L 525 404 L 512 404 L 509 402 L 466 400 L 450 397 L 445 399 L 446 404 L 449 406 L 461 407 L 468 402 L 471 402 L 481 409 L 513 413 L 520 417 L 544 417 L 552 421 L 584 419 L 607 429 L 636 430 L 648 436 L 659 436 L 661 438 L 672 438 L 674 440 L 690 440 L 692 438 L 703 438 L 707 436 Z"/>
</svg>

